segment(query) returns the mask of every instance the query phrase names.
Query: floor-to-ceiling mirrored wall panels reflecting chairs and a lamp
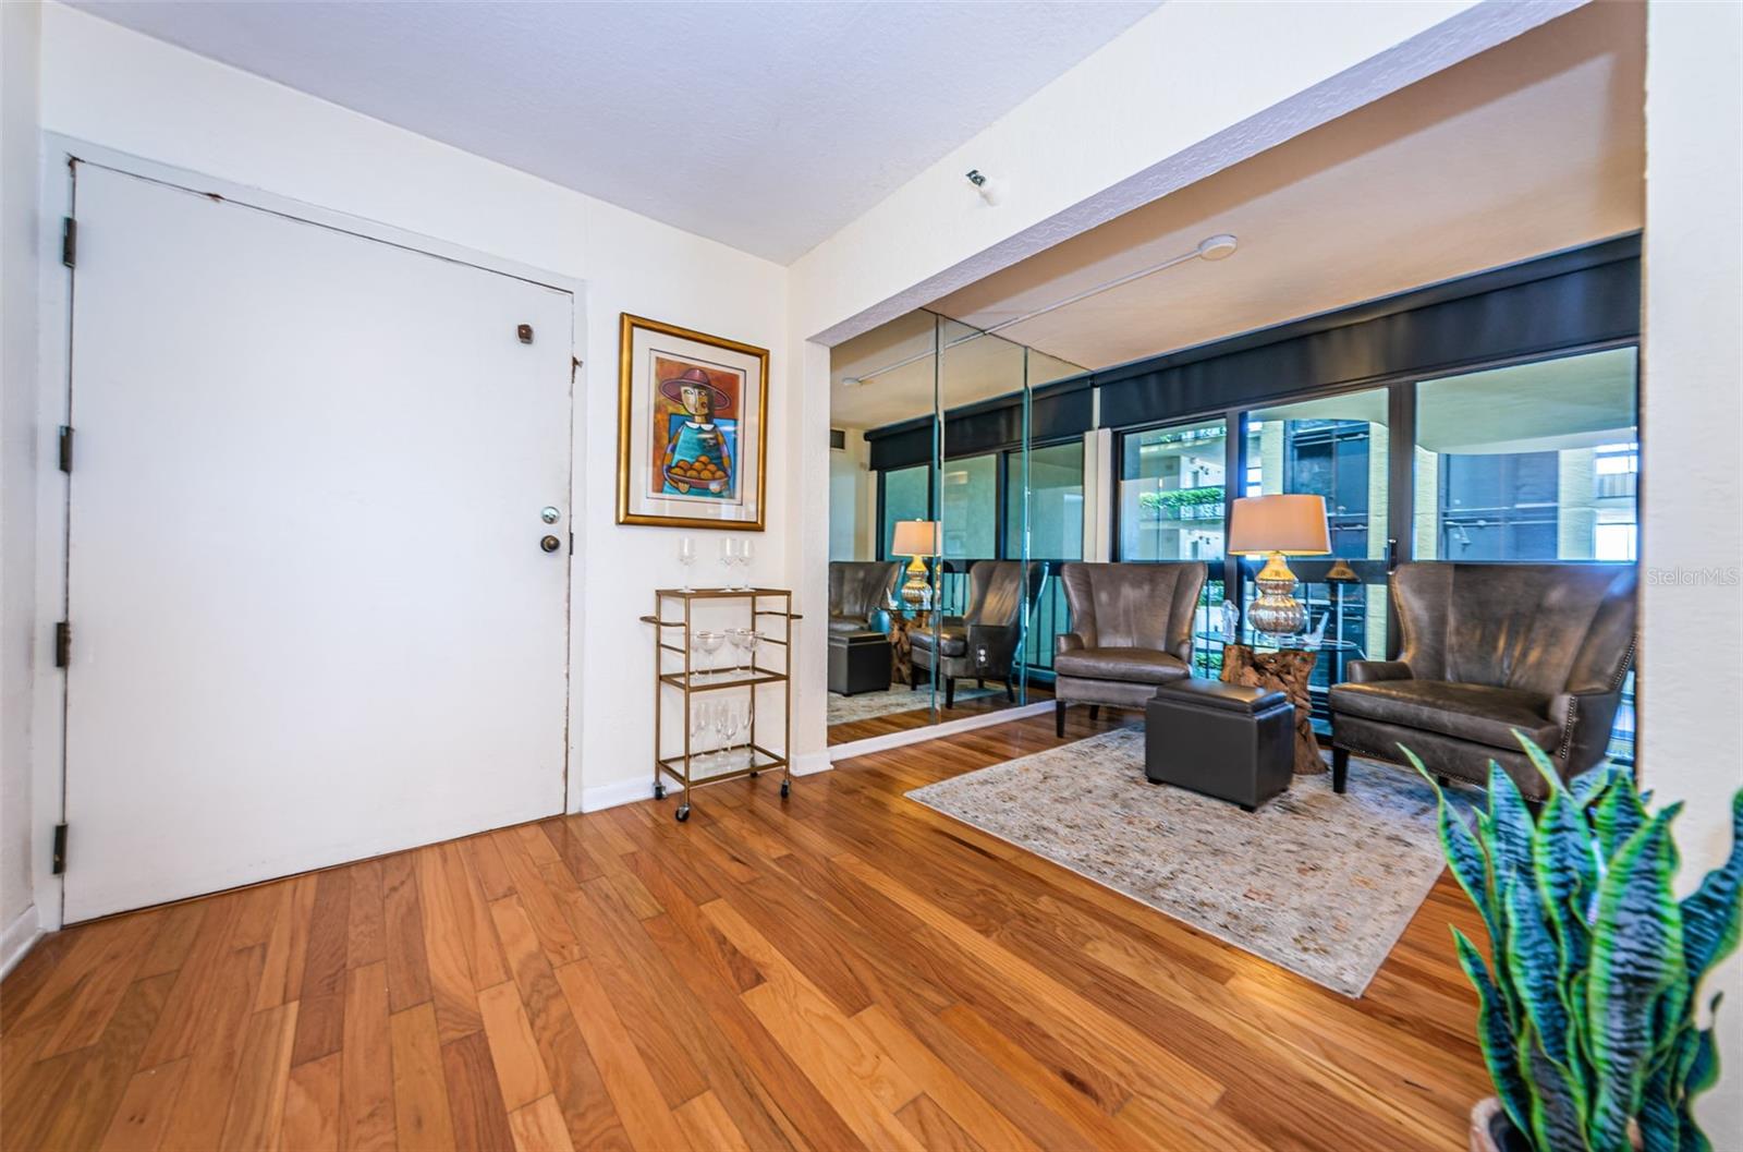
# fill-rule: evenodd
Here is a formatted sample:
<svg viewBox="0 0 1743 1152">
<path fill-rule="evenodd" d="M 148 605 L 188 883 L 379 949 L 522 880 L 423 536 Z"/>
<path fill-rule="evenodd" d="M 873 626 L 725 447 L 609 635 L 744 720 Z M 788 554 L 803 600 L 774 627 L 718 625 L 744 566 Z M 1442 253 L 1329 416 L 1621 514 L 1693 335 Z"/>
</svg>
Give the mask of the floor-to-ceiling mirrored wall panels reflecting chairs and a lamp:
<svg viewBox="0 0 1743 1152">
<path fill-rule="evenodd" d="M 1091 411 L 1046 385 L 1081 375 L 931 312 L 833 350 L 831 744 L 1049 699 Z"/>
</svg>

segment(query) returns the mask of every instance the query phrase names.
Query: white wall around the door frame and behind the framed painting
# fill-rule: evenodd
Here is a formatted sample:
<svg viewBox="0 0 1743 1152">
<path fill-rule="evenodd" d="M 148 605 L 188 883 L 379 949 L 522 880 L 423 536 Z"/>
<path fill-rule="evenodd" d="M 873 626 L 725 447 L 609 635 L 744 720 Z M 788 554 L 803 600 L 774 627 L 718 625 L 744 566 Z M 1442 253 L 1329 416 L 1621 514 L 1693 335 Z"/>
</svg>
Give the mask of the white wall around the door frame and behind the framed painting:
<svg viewBox="0 0 1743 1152">
<path fill-rule="evenodd" d="M 54 3 L 45 5 L 42 24 L 42 127 L 586 281 L 587 322 L 577 340 L 586 363 L 575 390 L 573 603 L 580 612 L 570 749 L 580 789 L 572 784 L 572 796 L 586 807 L 641 796 L 652 777 L 654 701 L 652 645 L 636 617 L 650 610 L 655 586 L 682 582 L 680 533 L 615 525 L 619 314 L 774 352 L 769 530 L 756 539 L 751 577 L 777 584 L 793 521 L 793 462 L 781 448 L 795 408 L 786 272 Z M 38 429 L 38 446 L 45 434 Z M 711 556 L 713 533 L 697 535 Z M 37 779 L 44 779 L 40 763 Z M 37 809 L 42 844 L 45 805 Z"/>
</svg>

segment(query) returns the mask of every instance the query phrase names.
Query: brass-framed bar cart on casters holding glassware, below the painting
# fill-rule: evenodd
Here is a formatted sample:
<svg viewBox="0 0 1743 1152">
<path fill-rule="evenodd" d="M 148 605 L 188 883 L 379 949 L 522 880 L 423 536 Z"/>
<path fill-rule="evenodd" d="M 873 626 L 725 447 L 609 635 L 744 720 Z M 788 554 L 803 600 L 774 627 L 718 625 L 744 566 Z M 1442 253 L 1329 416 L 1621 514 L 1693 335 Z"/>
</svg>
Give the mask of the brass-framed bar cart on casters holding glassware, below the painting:
<svg viewBox="0 0 1743 1152">
<path fill-rule="evenodd" d="M 692 654 L 697 652 L 697 636 L 713 636 L 715 633 L 699 633 L 692 610 L 709 601 L 744 601 L 749 613 L 749 631 L 756 633 L 756 641 L 748 648 L 746 667 L 695 667 Z M 793 612 L 793 593 L 781 587 L 704 587 L 694 591 L 662 587 L 654 591 L 654 615 L 641 617 L 641 622 L 654 626 L 654 798 L 666 798 L 662 774 L 682 779 L 683 802 L 675 812 L 678 823 L 690 819 L 690 789 L 702 784 L 718 784 L 781 769 L 781 798 L 784 800 L 791 795 L 793 765 L 788 760 L 788 753 L 793 741 L 793 685 L 788 671 L 793 667 L 793 620 L 798 619 L 802 617 Z M 779 636 L 760 633 L 763 622 L 774 620 L 779 620 Z M 763 667 L 756 659 L 763 645 L 781 648 L 783 671 Z M 678 699 L 682 701 L 683 755 L 676 756 L 664 753 L 666 732 L 661 720 L 668 688 L 678 692 Z M 692 711 L 695 706 L 694 697 L 729 688 L 749 690 L 744 741 L 727 742 L 723 748 L 711 748 L 708 753 L 692 748 L 697 735 L 695 715 Z M 756 702 L 763 688 L 781 694 L 779 751 L 760 742 L 756 734 Z M 697 774 L 697 762 L 704 755 L 711 767 Z M 739 763 L 741 755 L 743 763 Z M 722 762 L 727 762 L 727 767 L 713 767 Z"/>
</svg>

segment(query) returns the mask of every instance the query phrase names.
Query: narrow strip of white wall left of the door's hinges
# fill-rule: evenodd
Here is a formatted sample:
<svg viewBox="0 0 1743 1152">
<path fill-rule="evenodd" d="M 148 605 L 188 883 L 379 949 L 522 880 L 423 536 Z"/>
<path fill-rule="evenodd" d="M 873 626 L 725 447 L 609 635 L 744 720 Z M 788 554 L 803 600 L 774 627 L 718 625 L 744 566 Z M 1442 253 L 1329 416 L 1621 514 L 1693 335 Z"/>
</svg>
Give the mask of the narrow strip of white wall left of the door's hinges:
<svg viewBox="0 0 1743 1152">
<path fill-rule="evenodd" d="M 37 652 L 38 12 L 35 3 L 0 3 L 0 971 L 37 931 L 30 683 Z"/>
</svg>

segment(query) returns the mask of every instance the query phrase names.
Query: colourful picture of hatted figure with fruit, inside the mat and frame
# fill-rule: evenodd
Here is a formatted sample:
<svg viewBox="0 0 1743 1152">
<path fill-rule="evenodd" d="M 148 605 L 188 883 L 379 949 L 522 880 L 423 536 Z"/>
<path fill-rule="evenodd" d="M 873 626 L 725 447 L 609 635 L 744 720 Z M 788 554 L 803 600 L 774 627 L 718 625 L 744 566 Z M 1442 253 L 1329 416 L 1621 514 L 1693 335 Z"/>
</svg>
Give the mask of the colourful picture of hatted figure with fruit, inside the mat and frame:
<svg viewBox="0 0 1743 1152">
<path fill-rule="evenodd" d="M 739 397 L 744 376 L 720 364 L 654 356 L 654 491 L 737 500 Z"/>
</svg>

